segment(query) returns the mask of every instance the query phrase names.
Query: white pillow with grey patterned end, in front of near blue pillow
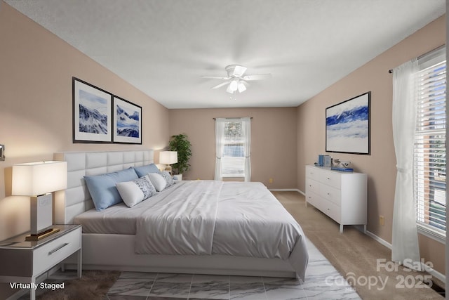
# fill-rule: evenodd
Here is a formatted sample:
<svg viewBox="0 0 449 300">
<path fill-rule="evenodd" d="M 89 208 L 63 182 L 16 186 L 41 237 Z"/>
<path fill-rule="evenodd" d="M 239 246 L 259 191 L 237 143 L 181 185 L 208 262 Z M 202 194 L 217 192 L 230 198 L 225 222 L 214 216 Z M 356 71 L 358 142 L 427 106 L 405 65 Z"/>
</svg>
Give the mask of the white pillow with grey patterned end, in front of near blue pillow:
<svg viewBox="0 0 449 300">
<path fill-rule="evenodd" d="M 123 202 L 127 207 L 133 207 L 156 194 L 156 189 L 149 181 L 148 176 L 135 179 L 133 181 L 118 182 L 116 188 Z"/>
</svg>

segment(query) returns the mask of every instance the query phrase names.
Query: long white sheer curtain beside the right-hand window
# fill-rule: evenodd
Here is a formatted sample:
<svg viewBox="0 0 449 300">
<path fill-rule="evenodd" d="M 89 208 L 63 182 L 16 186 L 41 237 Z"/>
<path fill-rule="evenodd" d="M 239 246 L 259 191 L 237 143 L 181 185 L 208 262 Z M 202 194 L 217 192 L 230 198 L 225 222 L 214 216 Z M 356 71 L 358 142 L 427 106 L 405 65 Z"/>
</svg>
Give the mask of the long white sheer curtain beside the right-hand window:
<svg viewBox="0 0 449 300">
<path fill-rule="evenodd" d="M 397 173 L 391 260 L 420 269 L 413 183 L 417 71 L 417 59 L 393 70 L 393 141 Z"/>
</svg>

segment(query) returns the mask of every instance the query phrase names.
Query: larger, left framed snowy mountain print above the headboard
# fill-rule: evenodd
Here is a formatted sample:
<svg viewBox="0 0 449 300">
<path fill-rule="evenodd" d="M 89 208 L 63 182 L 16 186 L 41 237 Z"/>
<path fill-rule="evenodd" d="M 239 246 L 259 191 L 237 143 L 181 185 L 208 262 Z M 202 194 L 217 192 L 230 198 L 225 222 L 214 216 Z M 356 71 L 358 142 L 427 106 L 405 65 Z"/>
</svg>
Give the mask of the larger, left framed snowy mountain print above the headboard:
<svg viewBox="0 0 449 300">
<path fill-rule="evenodd" d="M 112 94 L 72 78 L 73 143 L 112 143 Z"/>
</svg>

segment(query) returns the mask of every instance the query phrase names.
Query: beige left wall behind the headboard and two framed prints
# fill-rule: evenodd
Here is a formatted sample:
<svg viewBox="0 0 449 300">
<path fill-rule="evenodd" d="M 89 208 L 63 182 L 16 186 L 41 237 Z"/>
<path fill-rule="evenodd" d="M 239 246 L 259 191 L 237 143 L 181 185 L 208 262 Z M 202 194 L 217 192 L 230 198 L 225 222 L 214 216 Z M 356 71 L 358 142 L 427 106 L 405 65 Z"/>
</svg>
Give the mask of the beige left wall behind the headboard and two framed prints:
<svg viewBox="0 0 449 300">
<path fill-rule="evenodd" d="M 67 150 L 161 149 L 168 109 L 0 1 L 0 240 L 29 230 L 28 201 L 11 196 L 14 163 Z M 142 106 L 142 145 L 72 143 L 72 77 Z M 1 297 L 0 297 L 1 298 Z"/>
</svg>

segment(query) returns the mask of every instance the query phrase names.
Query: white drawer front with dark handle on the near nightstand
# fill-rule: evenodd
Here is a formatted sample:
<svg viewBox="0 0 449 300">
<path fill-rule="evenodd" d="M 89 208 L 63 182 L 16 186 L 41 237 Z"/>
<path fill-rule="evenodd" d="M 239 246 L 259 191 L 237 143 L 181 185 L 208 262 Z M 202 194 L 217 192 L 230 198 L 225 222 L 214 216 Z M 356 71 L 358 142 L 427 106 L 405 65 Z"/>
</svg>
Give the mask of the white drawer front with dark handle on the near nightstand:
<svg viewBox="0 0 449 300">
<path fill-rule="evenodd" d="M 39 275 L 81 248 L 81 228 L 43 244 L 33 252 L 33 276 Z"/>
</svg>

